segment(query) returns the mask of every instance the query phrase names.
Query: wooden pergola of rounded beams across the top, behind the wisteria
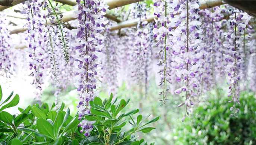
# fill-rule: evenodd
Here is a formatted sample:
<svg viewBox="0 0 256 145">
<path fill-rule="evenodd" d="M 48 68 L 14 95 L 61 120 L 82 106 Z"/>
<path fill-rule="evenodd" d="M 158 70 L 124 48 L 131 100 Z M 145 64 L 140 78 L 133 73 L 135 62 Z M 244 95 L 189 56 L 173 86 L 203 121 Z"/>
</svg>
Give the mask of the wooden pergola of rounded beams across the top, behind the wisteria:
<svg viewBox="0 0 256 145">
<path fill-rule="evenodd" d="M 76 2 L 75 1 L 70 1 L 70 0 L 56 0 L 59 3 L 62 4 L 67 4 L 70 6 L 75 6 Z M 127 4 L 131 4 L 131 3 L 136 3 L 140 0 L 108 0 L 107 1 L 107 5 L 109 6 L 109 9 L 114 9 L 117 7 L 121 7 L 121 6 L 125 6 Z M 1 0 L 0 1 L 0 11 L 7 9 L 9 7 L 15 6 L 17 4 L 22 3 L 23 0 Z M 237 7 L 238 9 L 241 9 L 243 11 L 246 11 L 247 13 L 249 13 L 252 16 L 256 16 L 256 1 L 236 1 L 236 0 L 229 0 L 229 1 L 222 1 L 222 0 L 205 0 L 205 1 L 200 1 L 200 9 L 208 9 L 211 7 L 215 7 L 215 6 L 220 6 L 222 4 L 228 3 L 231 6 Z M 63 13 L 63 17 L 61 19 L 62 22 L 69 22 L 71 20 L 75 20 L 76 18 L 73 17 L 75 10 L 71 10 L 68 11 L 66 13 Z M 127 20 L 127 21 L 122 21 L 117 19 L 116 16 L 113 16 L 111 14 L 105 14 L 105 17 L 107 17 L 110 20 L 113 20 L 115 22 L 117 22 L 117 24 L 113 27 L 111 27 L 111 31 L 112 30 L 120 30 L 122 28 L 126 28 L 126 27 L 132 27 L 132 26 L 136 26 L 139 22 L 139 19 L 134 19 L 134 20 Z M 15 16 L 13 16 L 15 17 Z M 148 16 L 147 19 L 144 19 L 145 21 L 148 22 L 153 22 L 154 19 L 157 19 L 156 16 L 152 15 L 152 16 Z M 23 28 L 23 26 L 18 25 L 15 27 L 15 29 L 10 31 L 10 34 L 16 34 L 16 33 L 21 33 L 21 32 L 25 32 L 26 29 Z"/>
</svg>

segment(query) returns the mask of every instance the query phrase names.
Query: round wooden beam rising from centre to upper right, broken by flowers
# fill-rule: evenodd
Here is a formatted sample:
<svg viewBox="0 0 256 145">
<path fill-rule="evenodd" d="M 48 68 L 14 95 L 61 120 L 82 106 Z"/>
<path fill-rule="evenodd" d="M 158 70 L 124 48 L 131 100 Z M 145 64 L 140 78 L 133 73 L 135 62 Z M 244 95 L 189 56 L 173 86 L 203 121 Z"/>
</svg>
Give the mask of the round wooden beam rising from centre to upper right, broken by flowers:
<svg viewBox="0 0 256 145">
<path fill-rule="evenodd" d="M 215 7 L 215 6 L 220 6 L 222 4 L 224 4 L 224 3 L 221 0 L 215 0 L 215 1 L 207 0 L 207 1 L 203 1 L 202 3 L 200 3 L 200 9 L 208 9 L 208 8 Z M 157 19 L 157 17 L 154 15 L 151 15 L 151 16 L 148 16 L 147 19 L 143 19 L 142 21 L 148 21 L 150 23 L 150 22 L 153 22 L 154 19 Z M 113 31 L 113 30 L 118 30 L 121 28 L 137 26 L 139 21 L 140 21 L 139 19 L 127 20 L 127 21 L 118 23 L 116 26 L 111 27 L 110 30 Z"/>
</svg>

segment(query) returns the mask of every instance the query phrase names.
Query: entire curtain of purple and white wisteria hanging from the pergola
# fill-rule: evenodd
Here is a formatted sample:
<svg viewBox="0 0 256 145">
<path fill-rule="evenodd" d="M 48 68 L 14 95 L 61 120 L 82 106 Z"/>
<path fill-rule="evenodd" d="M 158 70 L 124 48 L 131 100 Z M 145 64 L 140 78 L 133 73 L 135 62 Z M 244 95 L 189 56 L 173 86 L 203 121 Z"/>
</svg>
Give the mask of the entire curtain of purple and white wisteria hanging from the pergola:
<svg viewBox="0 0 256 145">
<path fill-rule="evenodd" d="M 230 109 L 237 113 L 240 90 L 256 91 L 254 18 L 228 4 L 200 9 L 198 0 L 155 0 L 151 6 L 143 1 L 132 4 L 129 13 L 121 14 L 137 20 L 136 26 L 112 31 L 117 24 L 105 17 L 105 1 L 77 0 L 72 15 L 77 19 L 69 30 L 57 2 L 24 1 L 20 13 L 26 17 L 26 31 L 20 35 L 25 37 L 24 62 L 27 59 L 36 100 L 40 103 L 47 81 L 55 88 L 56 103 L 60 92 L 74 85 L 78 126 L 85 136 L 94 123 L 84 117 L 91 113 L 89 102 L 101 86 L 117 92 L 120 80 L 146 96 L 149 80 L 156 76 L 156 98 L 162 105 L 168 96 L 183 99 L 178 105 L 185 108 L 182 120 L 208 91 L 227 85 Z M 12 77 L 13 60 L 19 56 L 8 23 L 0 13 L 0 74 Z"/>
</svg>

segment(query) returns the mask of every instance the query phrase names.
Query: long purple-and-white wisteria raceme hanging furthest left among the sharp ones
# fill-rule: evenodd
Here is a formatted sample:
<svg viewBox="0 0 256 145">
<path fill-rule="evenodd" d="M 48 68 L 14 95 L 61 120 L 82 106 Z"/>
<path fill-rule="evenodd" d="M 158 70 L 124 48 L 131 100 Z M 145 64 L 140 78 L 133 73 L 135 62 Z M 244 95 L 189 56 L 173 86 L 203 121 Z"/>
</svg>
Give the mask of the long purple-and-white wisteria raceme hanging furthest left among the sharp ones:
<svg viewBox="0 0 256 145">
<path fill-rule="evenodd" d="M 24 27 L 28 30 L 27 52 L 29 57 L 29 69 L 31 70 L 30 76 L 34 77 L 32 85 L 38 90 L 36 92 L 36 100 L 41 100 L 41 90 L 43 84 L 45 58 L 47 48 L 45 47 L 46 37 L 44 33 L 44 18 L 41 13 L 42 3 L 39 1 L 26 1 L 24 9 L 21 13 L 27 15 L 27 23 Z"/>
</svg>

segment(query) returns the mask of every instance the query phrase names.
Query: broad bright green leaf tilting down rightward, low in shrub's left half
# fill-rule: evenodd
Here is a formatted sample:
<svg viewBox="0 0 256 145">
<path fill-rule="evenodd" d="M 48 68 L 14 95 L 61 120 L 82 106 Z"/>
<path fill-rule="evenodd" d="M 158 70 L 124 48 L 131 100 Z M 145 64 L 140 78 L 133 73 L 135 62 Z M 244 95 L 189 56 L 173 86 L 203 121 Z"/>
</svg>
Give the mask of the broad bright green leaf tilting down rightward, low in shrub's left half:
<svg viewBox="0 0 256 145">
<path fill-rule="evenodd" d="M 42 118 L 37 119 L 37 129 L 41 134 L 43 134 L 51 139 L 55 138 L 53 126 L 45 119 L 42 119 Z"/>
</svg>

